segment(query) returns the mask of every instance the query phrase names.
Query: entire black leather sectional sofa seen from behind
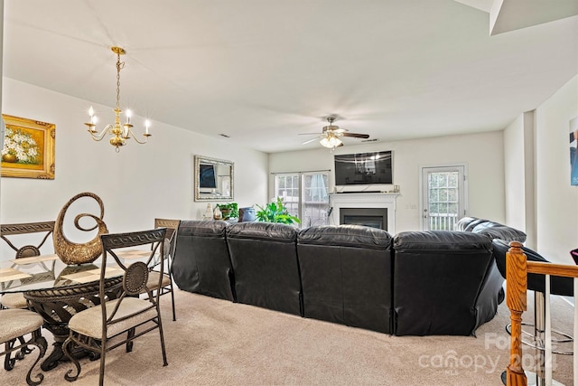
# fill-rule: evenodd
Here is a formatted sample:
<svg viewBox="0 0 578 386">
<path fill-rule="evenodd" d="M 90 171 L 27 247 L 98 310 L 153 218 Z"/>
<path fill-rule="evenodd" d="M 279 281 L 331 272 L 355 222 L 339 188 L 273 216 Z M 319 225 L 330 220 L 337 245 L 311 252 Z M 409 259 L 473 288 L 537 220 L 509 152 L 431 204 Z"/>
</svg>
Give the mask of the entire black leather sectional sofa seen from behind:
<svg viewBox="0 0 578 386">
<path fill-rule="evenodd" d="M 464 218 L 460 231 L 181 221 L 183 290 L 386 334 L 475 334 L 503 299 L 492 239 L 526 235 Z M 482 225 L 484 224 L 485 225 Z"/>
</svg>

